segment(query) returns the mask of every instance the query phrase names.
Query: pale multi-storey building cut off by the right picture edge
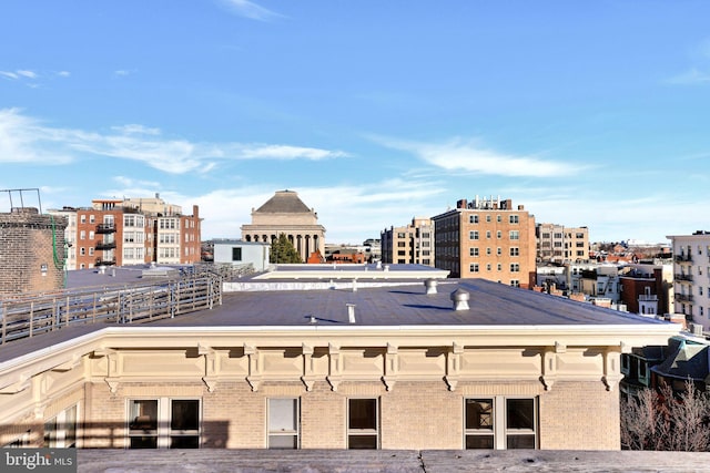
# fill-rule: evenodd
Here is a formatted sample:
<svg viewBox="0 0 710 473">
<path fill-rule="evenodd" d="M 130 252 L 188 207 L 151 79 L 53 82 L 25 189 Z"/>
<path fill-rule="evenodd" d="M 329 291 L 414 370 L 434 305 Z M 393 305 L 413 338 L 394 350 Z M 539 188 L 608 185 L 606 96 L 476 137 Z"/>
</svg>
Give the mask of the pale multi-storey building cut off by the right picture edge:
<svg viewBox="0 0 710 473">
<path fill-rule="evenodd" d="M 710 232 L 673 235 L 673 310 L 710 331 Z"/>
</svg>

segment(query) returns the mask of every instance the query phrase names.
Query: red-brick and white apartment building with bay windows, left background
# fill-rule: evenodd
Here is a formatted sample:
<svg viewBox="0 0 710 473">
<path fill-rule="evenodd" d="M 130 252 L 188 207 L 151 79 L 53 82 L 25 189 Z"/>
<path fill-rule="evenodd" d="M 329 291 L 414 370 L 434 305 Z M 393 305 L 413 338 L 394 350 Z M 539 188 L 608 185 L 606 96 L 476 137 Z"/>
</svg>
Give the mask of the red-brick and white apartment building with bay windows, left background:
<svg viewBox="0 0 710 473">
<path fill-rule="evenodd" d="M 199 207 L 182 207 L 155 196 L 146 199 L 94 199 L 91 207 L 49 210 L 68 219 L 71 245 L 67 268 L 146 263 L 191 264 L 201 259 Z"/>
</svg>

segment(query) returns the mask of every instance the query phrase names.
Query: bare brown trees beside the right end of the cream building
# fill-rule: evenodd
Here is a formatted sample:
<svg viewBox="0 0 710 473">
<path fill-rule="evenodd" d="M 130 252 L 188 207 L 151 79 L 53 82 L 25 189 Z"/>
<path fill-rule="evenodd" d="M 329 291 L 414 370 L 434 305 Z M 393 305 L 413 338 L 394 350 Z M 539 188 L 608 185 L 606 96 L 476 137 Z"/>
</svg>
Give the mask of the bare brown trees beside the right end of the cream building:
<svg viewBox="0 0 710 473">
<path fill-rule="evenodd" d="M 639 391 L 621 402 L 621 446 L 628 450 L 710 451 L 710 397 L 692 381 L 673 393 L 665 384 L 660 392 Z"/>
</svg>

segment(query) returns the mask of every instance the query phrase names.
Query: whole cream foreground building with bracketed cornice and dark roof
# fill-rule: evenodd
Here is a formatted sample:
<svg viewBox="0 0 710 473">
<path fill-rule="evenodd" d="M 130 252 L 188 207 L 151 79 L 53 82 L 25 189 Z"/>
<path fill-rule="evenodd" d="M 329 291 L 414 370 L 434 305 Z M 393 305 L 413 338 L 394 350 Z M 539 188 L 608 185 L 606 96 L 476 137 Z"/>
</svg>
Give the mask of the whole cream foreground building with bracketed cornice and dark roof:
<svg viewBox="0 0 710 473">
<path fill-rule="evenodd" d="M 159 325 L 0 347 L 0 445 L 618 450 L 621 354 L 680 329 L 483 279 L 285 276 Z"/>
</svg>

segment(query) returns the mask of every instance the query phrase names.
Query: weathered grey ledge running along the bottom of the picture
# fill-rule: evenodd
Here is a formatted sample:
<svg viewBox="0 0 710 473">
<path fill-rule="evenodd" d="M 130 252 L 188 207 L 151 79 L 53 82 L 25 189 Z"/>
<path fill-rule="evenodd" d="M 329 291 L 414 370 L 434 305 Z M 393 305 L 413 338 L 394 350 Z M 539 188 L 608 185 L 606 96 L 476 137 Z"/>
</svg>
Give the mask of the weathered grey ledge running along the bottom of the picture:
<svg viewBox="0 0 710 473">
<path fill-rule="evenodd" d="M 708 453 L 562 450 L 78 450 L 78 472 L 692 472 Z"/>
</svg>

